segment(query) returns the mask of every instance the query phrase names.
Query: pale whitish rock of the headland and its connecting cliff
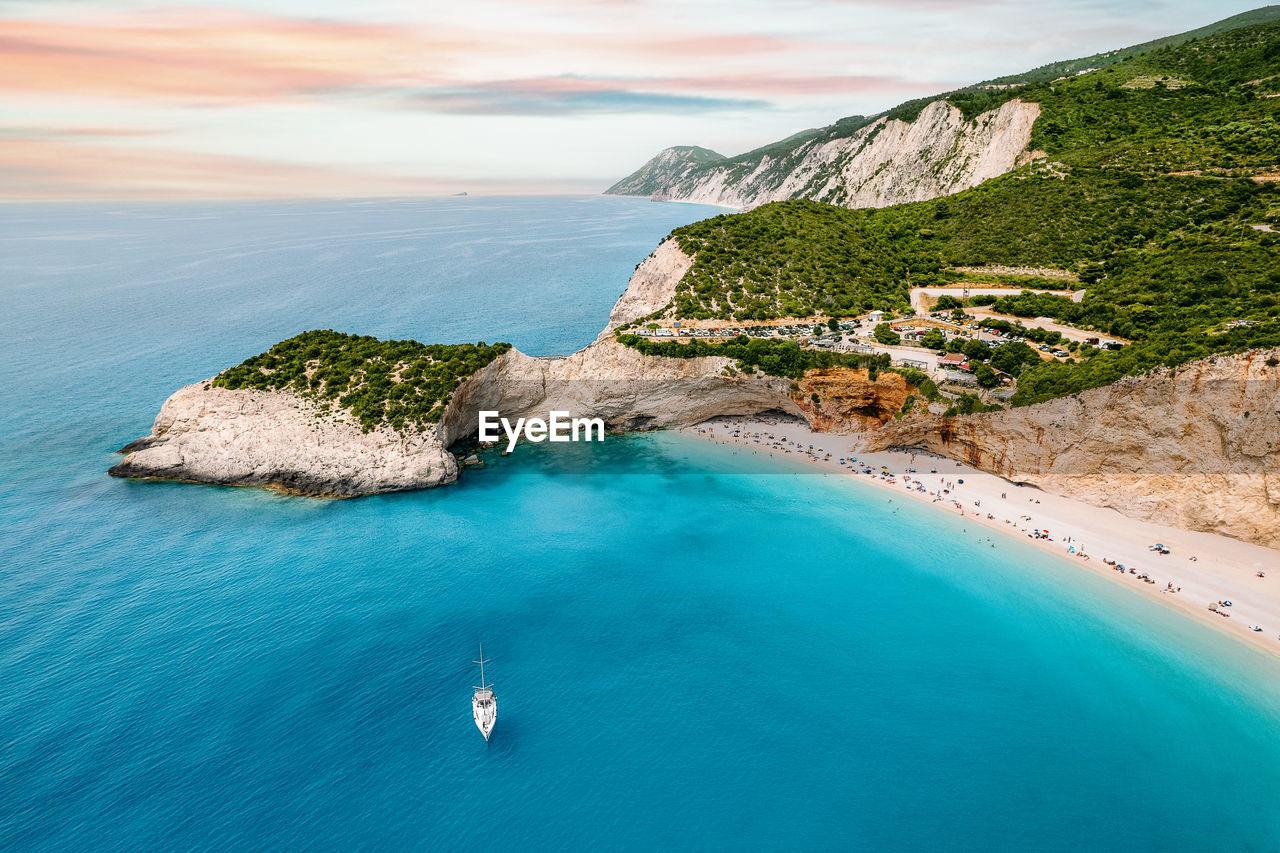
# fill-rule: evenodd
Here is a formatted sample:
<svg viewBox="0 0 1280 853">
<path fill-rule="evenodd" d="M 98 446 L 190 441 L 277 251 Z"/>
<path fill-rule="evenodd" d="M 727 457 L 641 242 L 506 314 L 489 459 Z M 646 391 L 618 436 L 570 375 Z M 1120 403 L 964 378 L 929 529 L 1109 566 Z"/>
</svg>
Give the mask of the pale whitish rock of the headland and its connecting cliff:
<svg viewBox="0 0 1280 853">
<path fill-rule="evenodd" d="M 430 428 L 362 432 L 355 419 L 291 391 L 233 391 L 204 380 L 170 396 L 150 435 L 122 448 L 125 457 L 110 474 L 355 497 L 454 482 L 449 448 L 475 435 L 480 410 L 545 418 L 557 409 L 603 418 L 614 432 L 771 409 L 801 414 L 786 379 L 726 370 L 730 359 L 663 359 L 613 341 L 613 328 L 666 305 L 690 264 L 675 242 L 663 243 L 639 265 L 594 343 L 564 359 L 503 353 L 454 389 Z"/>
</svg>

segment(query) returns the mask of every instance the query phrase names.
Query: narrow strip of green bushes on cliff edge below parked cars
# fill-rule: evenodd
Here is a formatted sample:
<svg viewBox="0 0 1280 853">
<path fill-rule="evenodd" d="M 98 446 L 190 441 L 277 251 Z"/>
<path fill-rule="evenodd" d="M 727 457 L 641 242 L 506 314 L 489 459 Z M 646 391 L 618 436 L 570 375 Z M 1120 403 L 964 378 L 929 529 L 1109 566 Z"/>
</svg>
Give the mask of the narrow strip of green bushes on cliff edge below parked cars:
<svg viewBox="0 0 1280 853">
<path fill-rule="evenodd" d="M 818 368 L 867 368 L 868 370 L 887 370 L 887 355 L 854 355 L 847 352 L 823 352 L 805 350 L 795 341 L 777 338 L 749 338 L 740 334 L 724 343 L 707 341 L 652 341 L 637 334 L 620 334 L 618 342 L 634 347 L 645 355 L 666 356 L 668 359 L 698 359 L 701 356 L 722 356 L 737 359 L 739 368 L 750 371 L 759 368 L 771 377 L 791 377 L 799 379 L 805 370 Z"/>
</svg>

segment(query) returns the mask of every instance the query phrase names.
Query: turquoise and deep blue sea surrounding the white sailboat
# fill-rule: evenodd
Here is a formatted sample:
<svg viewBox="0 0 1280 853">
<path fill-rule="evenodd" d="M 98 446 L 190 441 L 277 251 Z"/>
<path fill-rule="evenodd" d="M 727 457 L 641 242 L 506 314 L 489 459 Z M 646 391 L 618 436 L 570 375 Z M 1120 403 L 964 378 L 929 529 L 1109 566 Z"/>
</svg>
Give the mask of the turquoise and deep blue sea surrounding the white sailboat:
<svg viewBox="0 0 1280 853">
<path fill-rule="evenodd" d="M 0 849 L 1280 849 L 1276 661 L 867 484 L 678 434 L 105 475 L 305 328 L 577 348 L 713 213 L 0 207 Z"/>
</svg>

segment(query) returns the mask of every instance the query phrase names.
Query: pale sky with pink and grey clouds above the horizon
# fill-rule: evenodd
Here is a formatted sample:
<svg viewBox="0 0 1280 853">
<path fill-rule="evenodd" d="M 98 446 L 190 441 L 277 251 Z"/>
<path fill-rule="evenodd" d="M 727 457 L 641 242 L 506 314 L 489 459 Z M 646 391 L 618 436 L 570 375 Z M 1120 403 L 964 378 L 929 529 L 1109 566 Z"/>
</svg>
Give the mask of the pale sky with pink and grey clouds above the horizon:
<svg viewBox="0 0 1280 853">
<path fill-rule="evenodd" d="M 599 192 L 1258 5 L 0 0 L 0 199 Z"/>
</svg>

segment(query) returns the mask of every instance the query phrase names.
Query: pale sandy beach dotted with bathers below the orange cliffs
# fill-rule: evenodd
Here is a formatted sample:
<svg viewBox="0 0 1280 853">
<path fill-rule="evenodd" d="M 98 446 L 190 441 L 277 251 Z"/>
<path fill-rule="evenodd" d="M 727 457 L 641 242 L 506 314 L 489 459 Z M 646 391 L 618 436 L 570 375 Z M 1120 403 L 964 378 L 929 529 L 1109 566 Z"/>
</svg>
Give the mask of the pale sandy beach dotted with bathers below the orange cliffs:
<svg viewBox="0 0 1280 853">
<path fill-rule="evenodd" d="M 909 494 L 1032 542 L 1082 570 L 1100 573 L 1280 656 L 1280 552 L 1140 521 L 929 453 L 859 452 L 856 437 L 817 433 L 799 420 L 716 418 L 685 432 Z M 1156 544 L 1167 553 L 1153 549 Z"/>
</svg>

